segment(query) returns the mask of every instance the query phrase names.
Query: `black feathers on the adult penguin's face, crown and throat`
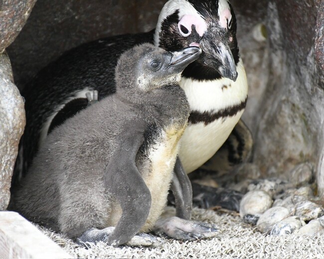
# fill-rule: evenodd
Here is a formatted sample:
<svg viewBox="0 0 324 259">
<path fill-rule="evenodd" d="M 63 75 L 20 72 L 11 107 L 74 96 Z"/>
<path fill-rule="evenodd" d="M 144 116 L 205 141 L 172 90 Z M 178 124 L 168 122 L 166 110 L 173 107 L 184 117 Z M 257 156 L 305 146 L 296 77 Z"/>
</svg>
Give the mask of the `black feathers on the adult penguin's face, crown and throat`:
<svg viewBox="0 0 324 259">
<path fill-rule="evenodd" d="M 224 44 L 229 46 L 232 52 L 234 62 L 237 64 L 239 62 L 239 49 L 236 40 L 236 17 L 232 5 L 229 3 L 230 12 L 232 15 L 230 28 L 221 28 L 219 25 L 218 16 L 218 0 L 187 0 L 195 10 L 200 14 L 200 16 L 205 20 L 207 24 L 207 31 L 205 34 L 209 33 L 210 28 L 219 28 L 223 33 Z M 178 29 L 178 22 L 181 19 L 179 17 L 179 9 L 174 10 L 174 12 L 168 15 L 162 20 L 161 32 L 160 32 L 160 42 L 159 46 L 169 50 L 176 51 L 185 47 L 188 47 L 190 43 L 199 43 L 204 36 L 200 36 L 195 26 L 191 27 L 191 34 L 187 37 L 182 36 Z M 230 41 L 230 37 L 232 41 Z M 205 62 L 206 53 L 202 53 L 199 59 L 191 63 L 182 73 L 182 76 L 193 78 L 196 80 L 213 80 L 221 78 L 221 74 L 215 67 L 207 65 Z M 217 62 L 215 62 L 217 64 Z M 221 65 L 221 63 L 219 63 Z"/>
</svg>

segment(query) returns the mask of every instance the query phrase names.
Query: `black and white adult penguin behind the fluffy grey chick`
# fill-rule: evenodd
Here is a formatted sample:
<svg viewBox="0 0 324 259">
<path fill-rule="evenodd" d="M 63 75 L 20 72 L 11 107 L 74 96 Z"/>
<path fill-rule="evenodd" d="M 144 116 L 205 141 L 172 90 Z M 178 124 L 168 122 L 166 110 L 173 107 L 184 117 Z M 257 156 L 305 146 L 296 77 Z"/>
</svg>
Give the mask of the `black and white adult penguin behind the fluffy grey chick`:
<svg viewBox="0 0 324 259">
<path fill-rule="evenodd" d="M 247 101 L 235 14 L 227 0 L 169 0 L 155 31 L 76 47 L 44 68 L 24 89 L 22 170 L 28 168 L 48 132 L 87 105 L 86 92 L 98 90 L 99 100 L 115 92 L 118 56 L 142 42 L 154 42 L 170 51 L 201 47 L 202 55 L 183 71 L 180 81 L 190 117 L 179 156 L 189 173 L 215 154 L 239 121 Z"/>
</svg>

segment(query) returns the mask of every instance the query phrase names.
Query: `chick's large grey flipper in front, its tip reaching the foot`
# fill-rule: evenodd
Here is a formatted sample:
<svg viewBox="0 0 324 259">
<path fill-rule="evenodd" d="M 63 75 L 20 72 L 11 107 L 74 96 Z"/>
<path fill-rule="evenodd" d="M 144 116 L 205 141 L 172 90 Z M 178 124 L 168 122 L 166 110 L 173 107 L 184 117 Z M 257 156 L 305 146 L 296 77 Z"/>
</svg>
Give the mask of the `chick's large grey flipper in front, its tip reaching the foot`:
<svg viewBox="0 0 324 259">
<path fill-rule="evenodd" d="M 125 244 L 144 226 L 151 208 L 151 192 L 135 164 L 136 154 L 144 141 L 144 130 L 132 124 L 121 135 L 121 145 L 107 165 L 104 185 L 122 207 L 123 213 L 107 244 Z M 134 129 L 134 130 L 133 130 Z M 130 131 L 130 130 L 129 130 Z"/>
</svg>

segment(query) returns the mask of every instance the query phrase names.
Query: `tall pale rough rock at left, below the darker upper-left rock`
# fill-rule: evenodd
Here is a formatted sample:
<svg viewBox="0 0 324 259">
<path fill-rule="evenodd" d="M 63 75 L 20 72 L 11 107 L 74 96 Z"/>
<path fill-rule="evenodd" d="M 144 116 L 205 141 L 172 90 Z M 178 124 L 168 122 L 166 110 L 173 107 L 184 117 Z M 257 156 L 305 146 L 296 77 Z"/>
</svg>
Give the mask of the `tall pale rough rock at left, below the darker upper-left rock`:
<svg viewBox="0 0 324 259">
<path fill-rule="evenodd" d="M 23 99 L 13 83 L 9 58 L 0 54 L 0 211 L 10 198 L 10 184 L 18 143 L 25 127 Z"/>
</svg>

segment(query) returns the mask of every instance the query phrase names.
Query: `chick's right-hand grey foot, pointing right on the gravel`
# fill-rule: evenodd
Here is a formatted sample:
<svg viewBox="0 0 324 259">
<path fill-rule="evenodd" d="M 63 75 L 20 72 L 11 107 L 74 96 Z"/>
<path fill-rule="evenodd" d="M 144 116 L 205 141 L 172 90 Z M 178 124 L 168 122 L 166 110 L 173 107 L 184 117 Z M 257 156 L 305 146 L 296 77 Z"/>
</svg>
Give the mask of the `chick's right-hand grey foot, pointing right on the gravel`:
<svg viewBox="0 0 324 259">
<path fill-rule="evenodd" d="M 171 217 L 159 220 L 154 227 L 154 233 L 177 240 L 194 241 L 215 237 L 218 235 L 218 228 L 214 224 Z"/>
</svg>

